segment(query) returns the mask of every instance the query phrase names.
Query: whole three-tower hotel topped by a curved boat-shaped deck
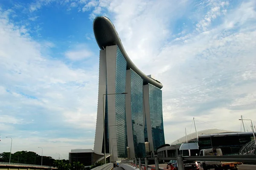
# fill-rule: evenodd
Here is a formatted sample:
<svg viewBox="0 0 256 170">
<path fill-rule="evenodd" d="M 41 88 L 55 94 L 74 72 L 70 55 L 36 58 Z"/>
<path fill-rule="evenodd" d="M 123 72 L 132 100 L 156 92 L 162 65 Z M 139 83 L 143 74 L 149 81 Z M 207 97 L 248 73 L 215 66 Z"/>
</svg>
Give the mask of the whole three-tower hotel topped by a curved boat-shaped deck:
<svg viewBox="0 0 256 170">
<path fill-rule="evenodd" d="M 114 160 L 156 152 L 165 144 L 163 85 L 134 65 L 107 17 L 95 18 L 93 32 L 100 48 L 94 152 Z"/>
</svg>

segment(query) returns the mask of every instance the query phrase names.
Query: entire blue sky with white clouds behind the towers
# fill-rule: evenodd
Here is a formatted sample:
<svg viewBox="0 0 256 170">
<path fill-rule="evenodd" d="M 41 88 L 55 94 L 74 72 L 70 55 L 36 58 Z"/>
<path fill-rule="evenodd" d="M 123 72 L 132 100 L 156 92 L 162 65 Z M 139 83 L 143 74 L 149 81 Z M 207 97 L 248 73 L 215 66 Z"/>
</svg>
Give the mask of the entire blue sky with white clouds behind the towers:
<svg viewBox="0 0 256 170">
<path fill-rule="evenodd" d="M 93 149 L 108 16 L 134 63 L 163 83 L 166 143 L 256 124 L 255 0 L 1 0 L 0 153 Z M 250 122 L 245 129 L 250 130 Z"/>
</svg>

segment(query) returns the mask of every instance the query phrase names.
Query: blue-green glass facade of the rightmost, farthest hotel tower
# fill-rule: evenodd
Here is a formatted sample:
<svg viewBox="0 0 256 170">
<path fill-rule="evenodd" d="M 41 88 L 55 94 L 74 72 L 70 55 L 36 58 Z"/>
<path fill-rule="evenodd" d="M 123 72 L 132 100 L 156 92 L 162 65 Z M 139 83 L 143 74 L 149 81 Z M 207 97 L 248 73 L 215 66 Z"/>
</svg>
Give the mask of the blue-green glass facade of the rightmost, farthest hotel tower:
<svg viewBox="0 0 256 170">
<path fill-rule="evenodd" d="M 162 107 L 162 90 L 149 85 L 149 112 L 152 128 L 152 138 L 154 151 L 157 147 L 165 144 L 163 132 L 163 107 Z"/>
</svg>

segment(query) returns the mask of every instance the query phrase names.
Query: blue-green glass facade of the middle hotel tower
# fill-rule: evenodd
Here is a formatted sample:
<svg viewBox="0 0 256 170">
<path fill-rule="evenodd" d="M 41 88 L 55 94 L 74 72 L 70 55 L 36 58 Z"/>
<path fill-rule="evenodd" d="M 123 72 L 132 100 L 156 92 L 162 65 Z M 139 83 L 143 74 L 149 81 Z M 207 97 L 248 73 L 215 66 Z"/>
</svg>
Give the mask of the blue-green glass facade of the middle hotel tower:
<svg viewBox="0 0 256 170">
<path fill-rule="evenodd" d="M 143 79 L 131 70 L 131 122 L 136 158 L 145 157 Z"/>
</svg>

